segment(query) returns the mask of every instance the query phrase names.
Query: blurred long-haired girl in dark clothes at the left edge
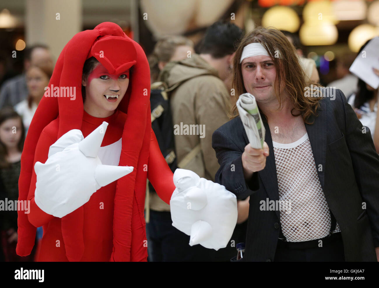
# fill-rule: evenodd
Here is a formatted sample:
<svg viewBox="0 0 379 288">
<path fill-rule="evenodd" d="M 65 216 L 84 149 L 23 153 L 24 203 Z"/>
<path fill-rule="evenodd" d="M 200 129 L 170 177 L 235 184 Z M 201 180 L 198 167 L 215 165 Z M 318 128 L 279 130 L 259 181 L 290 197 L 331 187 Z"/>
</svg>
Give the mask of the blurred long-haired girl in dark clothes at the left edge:
<svg viewBox="0 0 379 288">
<path fill-rule="evenodd" d="M 0 193 L 1 199 L 18 199 L 18 180 L 21 168 L 21 153 L 25 129 L 20 115 L 10 107 L 0 111 Z M 16 255 L 17 211 L 2 211 L 1 243 L 5 261 L 20 261 Z M 22 259 L 30 261 L 32 257 Z"/>
</svg>

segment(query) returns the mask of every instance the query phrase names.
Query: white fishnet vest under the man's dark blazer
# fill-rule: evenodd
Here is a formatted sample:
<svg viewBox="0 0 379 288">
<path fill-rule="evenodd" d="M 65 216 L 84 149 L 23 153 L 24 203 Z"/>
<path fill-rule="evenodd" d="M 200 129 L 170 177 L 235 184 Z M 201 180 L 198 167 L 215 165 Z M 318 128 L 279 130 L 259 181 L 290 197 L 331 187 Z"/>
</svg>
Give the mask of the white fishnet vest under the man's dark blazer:
<svg viewBox="0 0 379 288">
<path fill-rule="evenodd" d="M 291 210 L 287 211 L 290 213 L 280 211 L 283 235 L 290 242 L 326 237 L 330 231 L 330 212 L 308 133 L 289 144 L 273 141 L 273 146 L 279 199 L 291 201 Z M 340 232 L 338 224 L 334 232 Z"/>
</svg>

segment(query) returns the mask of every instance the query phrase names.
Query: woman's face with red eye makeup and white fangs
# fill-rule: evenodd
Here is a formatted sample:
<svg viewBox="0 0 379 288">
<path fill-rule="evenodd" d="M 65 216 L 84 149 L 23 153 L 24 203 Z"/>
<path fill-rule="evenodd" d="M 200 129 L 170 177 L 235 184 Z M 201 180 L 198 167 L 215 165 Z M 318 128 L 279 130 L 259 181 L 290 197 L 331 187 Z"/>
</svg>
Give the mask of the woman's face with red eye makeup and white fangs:
<svg viewBox="0 0 379 288">
<path fill-rule="evenodd" d="M 113 114 L 129 85 L 129 70 L 118 75 L 110 74 L 98 62 L 82 85 L 86 87 L 84 110 L 94 117 L 105 118 Z"/>
</svg>

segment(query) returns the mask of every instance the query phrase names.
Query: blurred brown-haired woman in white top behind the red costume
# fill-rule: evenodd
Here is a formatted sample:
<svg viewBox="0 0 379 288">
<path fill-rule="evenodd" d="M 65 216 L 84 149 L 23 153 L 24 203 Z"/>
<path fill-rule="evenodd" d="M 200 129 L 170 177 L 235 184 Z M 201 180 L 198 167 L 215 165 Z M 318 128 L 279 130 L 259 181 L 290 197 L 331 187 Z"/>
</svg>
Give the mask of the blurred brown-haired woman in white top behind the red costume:
<svg viewBox="0 0 379 288">
<path fill-rule="evenodd" d="M 14 109 L 22 117 L 23 125 L 27 131 L 36 112 L 39 101 L 45 93 L 45 87 L 49 85 L 53 67 L 50 65 L 32 65 L 27 70 L 26 82 L 29 91 L 28 98 L 14 106 Z"/>
</svg>

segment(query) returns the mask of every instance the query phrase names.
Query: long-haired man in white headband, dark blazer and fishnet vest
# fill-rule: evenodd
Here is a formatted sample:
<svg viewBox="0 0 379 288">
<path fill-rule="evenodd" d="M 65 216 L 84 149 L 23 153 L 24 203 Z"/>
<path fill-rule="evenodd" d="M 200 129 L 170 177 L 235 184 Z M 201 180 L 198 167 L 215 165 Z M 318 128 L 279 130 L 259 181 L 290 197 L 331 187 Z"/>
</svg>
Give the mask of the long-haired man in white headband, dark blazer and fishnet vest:
<svg viewBox="0 0 379 288">
<path fill-rule="evenodd" d="M 235 105 L 212 146 L 221 165 L 215 181 L 237 199 L 250 196 L 243 259 L 376 261 L 379 156 L 370 130 L 340 90 L 305 79 L 279 30 L 257 28 L 241 40 L 235 100 L 254 95 L 265 142 L 251 148 Z"/>
</svg>

